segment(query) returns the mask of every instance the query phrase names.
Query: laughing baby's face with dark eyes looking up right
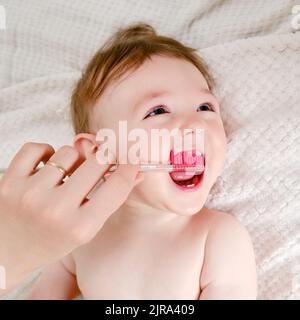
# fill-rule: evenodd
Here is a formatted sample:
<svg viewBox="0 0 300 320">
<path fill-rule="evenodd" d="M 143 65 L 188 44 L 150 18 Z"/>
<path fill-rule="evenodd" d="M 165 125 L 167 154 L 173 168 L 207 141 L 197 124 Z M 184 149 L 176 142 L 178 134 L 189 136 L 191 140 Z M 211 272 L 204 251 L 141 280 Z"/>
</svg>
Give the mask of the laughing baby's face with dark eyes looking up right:
<svg viewBox="0 0 300 320">
<path fill-rule="evenodd" d="M 152 92 L 160 94 L 145 98 Z M 116 137 L 119 121 L 127 121 L 128 132 L 136 128 L 145 130 L 149 137 L 149 155 L 147 159 L 142 155 L 141 162 L 151 162 L 151 129 L 171 132 L 178 128 L 182 133 L 184 129 L 204 129 L 205 150 L 190 147 L 194 151 L 204 151 L 205 171 L 201 176 L 179 183 L 168 172 L 148 172 L 127 200 L 127 203 L 139 204 L 145 209 L 151 207 L 181 215 L 195 214 L 203 207 L 223 167 L 226 136 L 219 104 L 193 64 L 176 58 L 153 56 L 140 68 L 107 87 L 96 103 L 91 119 L 94 132 L 111 128 Z M 130 146 L 128 142 L 128 149 Z M 172 149 L 174 141 L 170 145 L 160 143 L 161 163 L 170 162 Z"/>
</svg>

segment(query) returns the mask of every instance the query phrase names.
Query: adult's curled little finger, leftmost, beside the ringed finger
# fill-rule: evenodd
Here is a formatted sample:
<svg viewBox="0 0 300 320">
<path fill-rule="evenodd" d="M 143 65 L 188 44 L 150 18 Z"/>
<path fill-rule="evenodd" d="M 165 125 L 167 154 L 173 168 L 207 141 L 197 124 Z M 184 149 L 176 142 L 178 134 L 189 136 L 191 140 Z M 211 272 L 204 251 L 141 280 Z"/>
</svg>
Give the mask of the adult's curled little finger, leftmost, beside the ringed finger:
<svg viewBox="0 0 300 320">
<path fill-rule="evenodd" d="M 15 177 L 29 176 L 41 161 L 48 161 L 54 152 L 49 144 L 27 142 L 14 156 L 5 174 Z"/>
</svg>

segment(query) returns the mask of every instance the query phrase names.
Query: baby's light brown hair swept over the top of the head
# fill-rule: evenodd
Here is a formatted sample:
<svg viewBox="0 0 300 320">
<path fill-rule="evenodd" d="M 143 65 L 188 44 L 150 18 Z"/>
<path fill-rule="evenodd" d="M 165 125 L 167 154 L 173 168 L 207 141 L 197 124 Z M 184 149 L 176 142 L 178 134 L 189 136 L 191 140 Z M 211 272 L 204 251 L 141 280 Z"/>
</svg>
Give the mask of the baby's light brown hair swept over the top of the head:
<svg viewBox="0 0 300 320">
<path fill-rule="evenodd" d="M 77 82 L 71 97 L 71 119 L 76 134 L 89 132 L 89 109 L 113 80 L 136 70 L 153 55 L 176 57 L 195 65 L 209 88 L 213 79 L 196 49 L 161 36 L 149 24 L 135 23 L 120 28 L 95 53 Z"/>
</svg>

